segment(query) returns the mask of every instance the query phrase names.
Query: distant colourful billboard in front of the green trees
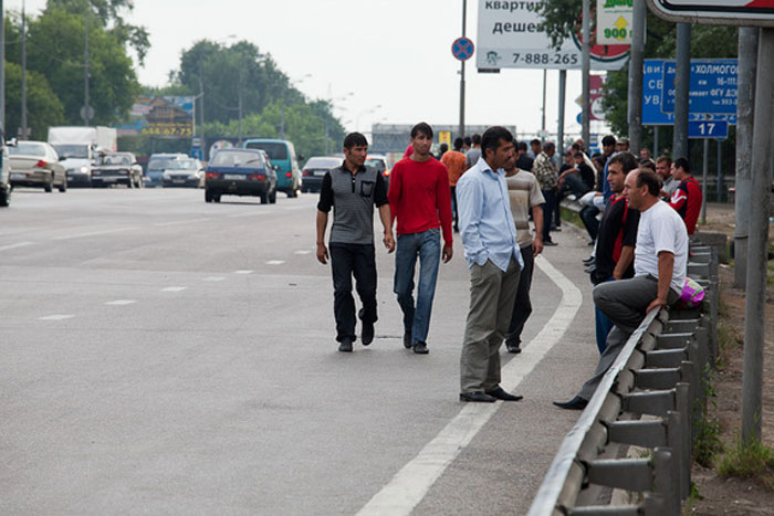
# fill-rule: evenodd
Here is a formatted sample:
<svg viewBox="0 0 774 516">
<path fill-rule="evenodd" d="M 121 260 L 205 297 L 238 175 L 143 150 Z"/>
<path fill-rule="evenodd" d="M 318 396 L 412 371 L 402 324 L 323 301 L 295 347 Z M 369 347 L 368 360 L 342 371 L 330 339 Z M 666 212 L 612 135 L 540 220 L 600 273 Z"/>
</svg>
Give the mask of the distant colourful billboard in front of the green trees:
<svg viewBox="0 0 774 516">
<path fill-rule="evenodd" d="M 194 135 L 192 96 L 142 96 L 132 106 L 129 120 L 118 135 L 190 138 Z"/>
</svg>

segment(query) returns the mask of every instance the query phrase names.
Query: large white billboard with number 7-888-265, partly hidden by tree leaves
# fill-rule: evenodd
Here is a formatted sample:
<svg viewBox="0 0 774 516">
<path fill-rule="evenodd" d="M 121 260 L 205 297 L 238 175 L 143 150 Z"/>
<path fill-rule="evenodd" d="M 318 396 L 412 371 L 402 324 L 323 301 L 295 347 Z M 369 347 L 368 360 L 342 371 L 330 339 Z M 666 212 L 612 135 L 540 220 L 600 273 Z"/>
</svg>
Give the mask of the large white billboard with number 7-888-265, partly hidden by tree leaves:
<svg viewBox="0 0 774 516">
<path fill-rule="evenodd" d="M 536 12 L 542 3 L 479 0 L 477 66 L 580 70 L 579 13 L 578 33 L 565 38 L 556 50 L 543 28 L 543 18 Z M 593 44 L 592 70 L 619 70 L 626 64 L 628 52 L 628 45 Z"/>
</svg>

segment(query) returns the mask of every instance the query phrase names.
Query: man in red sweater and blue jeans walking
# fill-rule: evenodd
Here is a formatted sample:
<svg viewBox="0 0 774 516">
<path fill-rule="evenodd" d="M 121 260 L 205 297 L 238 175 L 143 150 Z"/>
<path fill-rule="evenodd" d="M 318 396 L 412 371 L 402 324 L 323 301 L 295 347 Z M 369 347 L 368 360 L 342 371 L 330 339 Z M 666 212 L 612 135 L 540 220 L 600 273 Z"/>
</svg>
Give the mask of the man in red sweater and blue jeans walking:
<svg viewBox="0 0 774 516">
<path fill-rule="evenodd" d="M 430 155 L 432 128 L 421 122 L 411 128 L 411 156 L 389 175 L 393 218 L 398 220 L 395 253 L 395 293 L 404 312 L 404 346 L 425 355 L 436 294 L 441 229 L 443 263 L 451 260 L 451 194 L 446 167 Z M 414 302 L 414 273 L 419 257 L 419 286 Z"/>
</svg>

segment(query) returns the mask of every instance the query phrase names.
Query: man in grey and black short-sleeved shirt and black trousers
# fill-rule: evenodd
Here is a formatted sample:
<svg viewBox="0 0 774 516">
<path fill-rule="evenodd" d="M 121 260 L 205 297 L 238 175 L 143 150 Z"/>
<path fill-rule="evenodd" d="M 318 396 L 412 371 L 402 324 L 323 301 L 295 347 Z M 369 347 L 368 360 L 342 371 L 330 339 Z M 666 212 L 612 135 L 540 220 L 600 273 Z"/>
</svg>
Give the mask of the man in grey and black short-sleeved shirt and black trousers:
<svg viewBox="0 0 774 516">
<path fill-rule="evenodd" d="M 364 166 L 368 141 L 359 133 L 344 138 L 344 164 L 328 171 L 323 178 L 317 203 L 317 260 L 331 259 L 333 273 L 336 340 L 338 350 L 351 352 L 355 341 L 355 299 L 352 296 L 352 276 L 357 282 L 357 294 L 363 307 L 360 339 L 364 346 L 374 340 L 376 323 L 376 261 L 374 256 L 374 204 L 385 229 L 384 244 L 388 252 L 395 250 L 393 224 L 387 203 L 387 189 L 381 173 Z M 328 249 L 325 246 L 325 229 L 328 212 L 333 208 L 333 224 Z"/>
</svg>

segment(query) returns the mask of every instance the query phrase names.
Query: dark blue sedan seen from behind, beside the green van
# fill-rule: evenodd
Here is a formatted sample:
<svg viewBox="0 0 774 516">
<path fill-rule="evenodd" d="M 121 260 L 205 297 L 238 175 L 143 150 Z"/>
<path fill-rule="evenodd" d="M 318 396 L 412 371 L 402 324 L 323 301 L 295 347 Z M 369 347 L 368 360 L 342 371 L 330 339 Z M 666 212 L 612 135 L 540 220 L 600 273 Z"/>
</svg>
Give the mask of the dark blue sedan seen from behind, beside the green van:
<svg viewBox="0 0 774 516">
<path fill-rule="evenodd" d="M 255 196 L 261 204 L 276 202 L 276 170 L 257 149 L 220 149 L 207 165 L 205 201 L 220 196 Z"/>
</svg>

